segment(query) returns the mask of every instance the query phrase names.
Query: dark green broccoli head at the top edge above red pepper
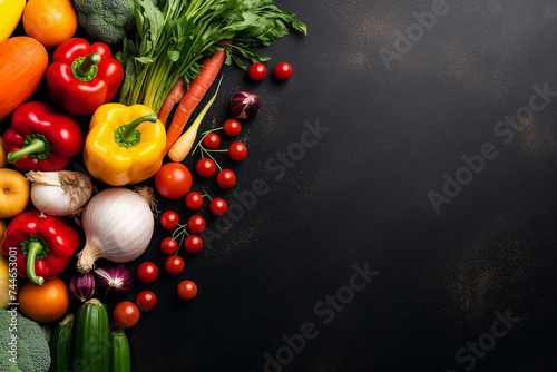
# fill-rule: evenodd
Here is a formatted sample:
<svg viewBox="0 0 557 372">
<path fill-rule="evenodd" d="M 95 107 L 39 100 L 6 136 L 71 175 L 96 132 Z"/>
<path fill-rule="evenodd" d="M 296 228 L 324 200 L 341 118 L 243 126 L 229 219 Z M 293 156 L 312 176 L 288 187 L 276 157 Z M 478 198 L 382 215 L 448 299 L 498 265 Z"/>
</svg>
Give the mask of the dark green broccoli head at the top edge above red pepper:
<svg viewBox="0 0 557 372">
<path fill-rule="evenodd" d="M 135 30 L 134 0 L 75 0 L 79 25 L 96 40 L 114 45 Z"/>
</svg>

